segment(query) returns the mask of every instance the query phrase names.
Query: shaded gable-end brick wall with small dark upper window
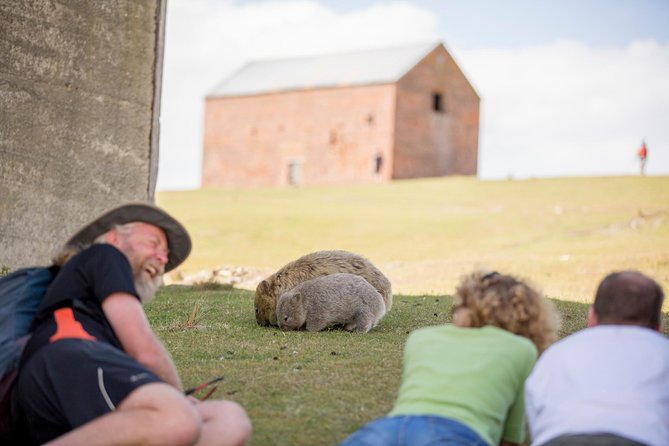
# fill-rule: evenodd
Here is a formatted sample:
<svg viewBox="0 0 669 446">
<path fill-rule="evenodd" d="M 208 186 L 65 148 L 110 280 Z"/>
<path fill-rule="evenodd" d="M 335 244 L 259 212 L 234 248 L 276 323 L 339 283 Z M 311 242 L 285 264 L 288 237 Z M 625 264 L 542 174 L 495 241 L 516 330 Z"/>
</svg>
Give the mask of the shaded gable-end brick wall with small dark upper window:
<svg viewBox="0 0 669 446">
<path fill-rule="evenodd" d="M 440 93 L 443 112 L 433 110 Z M 476 174 L 479 97 L 443 47 L 397 84 L 393 178 Z"/>
</svg>

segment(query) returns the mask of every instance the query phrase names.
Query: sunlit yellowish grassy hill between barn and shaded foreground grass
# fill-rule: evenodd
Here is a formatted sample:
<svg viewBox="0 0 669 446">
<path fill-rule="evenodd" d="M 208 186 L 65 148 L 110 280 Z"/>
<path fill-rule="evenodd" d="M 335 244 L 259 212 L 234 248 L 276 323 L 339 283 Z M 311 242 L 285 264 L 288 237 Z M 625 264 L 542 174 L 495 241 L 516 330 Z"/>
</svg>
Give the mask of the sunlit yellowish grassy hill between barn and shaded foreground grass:
<svg viewBox="0 0 669 446">
<path fill-rule="evenodd" d="M 450 294 L 477 267 L 580 302 L 616 269 L 669 289 L 669 177 L 204 189 L 161 192 L 157 202 L 192 234 L 181 273 L 241 265 L 270 274 L 344 249 L 368 257 L 400 294 Z"/>
</svg>

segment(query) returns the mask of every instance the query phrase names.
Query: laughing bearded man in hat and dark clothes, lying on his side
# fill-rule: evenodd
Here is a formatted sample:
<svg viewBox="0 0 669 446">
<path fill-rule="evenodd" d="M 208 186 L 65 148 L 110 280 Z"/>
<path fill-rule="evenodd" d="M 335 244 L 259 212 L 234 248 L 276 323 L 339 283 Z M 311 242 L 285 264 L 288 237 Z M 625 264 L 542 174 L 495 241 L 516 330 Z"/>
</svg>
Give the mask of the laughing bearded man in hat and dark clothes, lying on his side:
<svg viewBox="0 0 669 446">
<path fill-rule="evenodd" d="M 142 304 L 191 242 L 161 209 L 131 203 L 86 225 L 49 286 L 21 357 L 12 398 L 21 444 L 244 444 L 231 401 L 183 394 Z"/>
</svg>

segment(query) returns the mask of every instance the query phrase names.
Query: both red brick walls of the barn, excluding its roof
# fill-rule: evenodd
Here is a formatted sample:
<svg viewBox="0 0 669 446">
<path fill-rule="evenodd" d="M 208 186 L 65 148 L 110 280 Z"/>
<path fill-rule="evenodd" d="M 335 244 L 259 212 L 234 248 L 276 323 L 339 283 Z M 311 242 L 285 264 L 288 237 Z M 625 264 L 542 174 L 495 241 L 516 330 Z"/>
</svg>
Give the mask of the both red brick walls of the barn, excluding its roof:
<svg viewBox="0 0 669 446">
<path fill-rule="evenodd" d="M 394 85 L 208 98 L 205 107 L 203 186 L 285 185 L 291 164 L 298 184 L 477 170 L 479 98 L 441 46 Z"/>
</svg>

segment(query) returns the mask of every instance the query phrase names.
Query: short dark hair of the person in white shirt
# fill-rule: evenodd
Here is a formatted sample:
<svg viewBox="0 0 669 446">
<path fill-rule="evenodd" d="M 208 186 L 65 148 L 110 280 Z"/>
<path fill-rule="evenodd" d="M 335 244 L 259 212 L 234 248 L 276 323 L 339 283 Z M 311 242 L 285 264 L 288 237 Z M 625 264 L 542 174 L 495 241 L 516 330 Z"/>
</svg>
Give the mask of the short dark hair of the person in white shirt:
<svg viewBox="0 0 669 446">
<path fill-rule="evenodd" d="M 593 306 L 598 324 L 660 325 L 664 292 L 650 277 L 638 271 L 609 274 L 597 288 Z"/>
</svg>

